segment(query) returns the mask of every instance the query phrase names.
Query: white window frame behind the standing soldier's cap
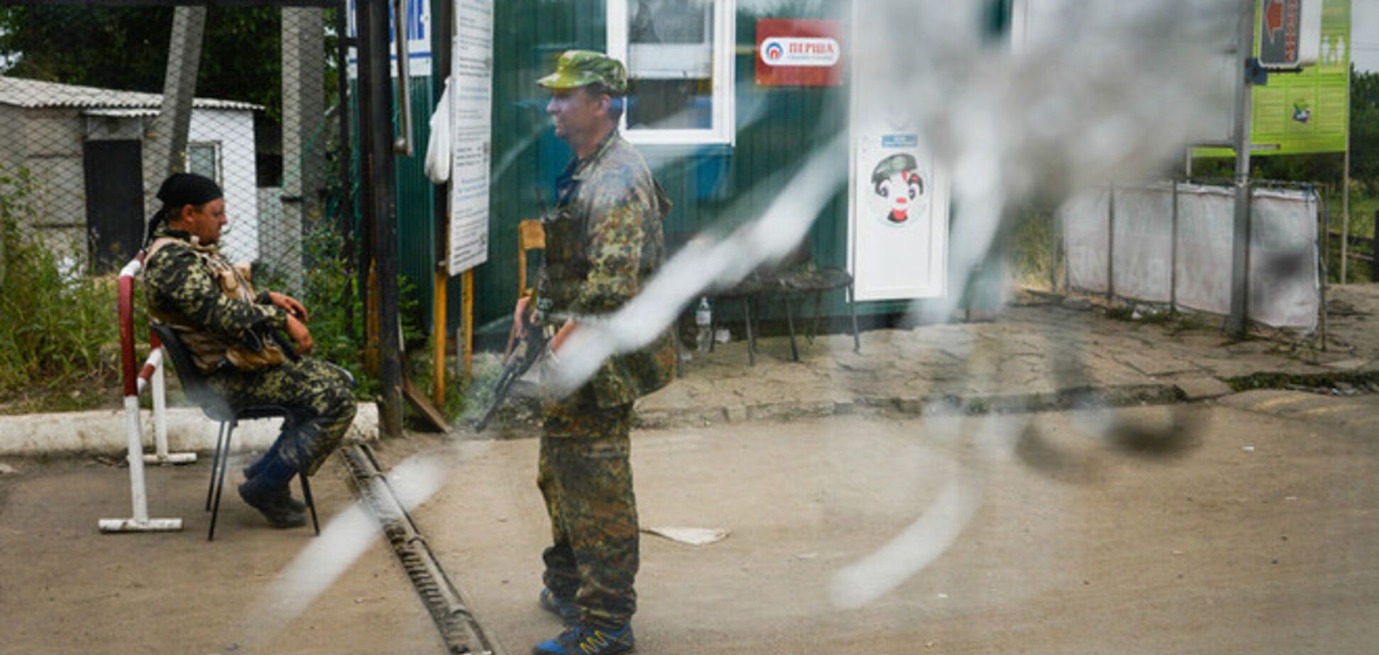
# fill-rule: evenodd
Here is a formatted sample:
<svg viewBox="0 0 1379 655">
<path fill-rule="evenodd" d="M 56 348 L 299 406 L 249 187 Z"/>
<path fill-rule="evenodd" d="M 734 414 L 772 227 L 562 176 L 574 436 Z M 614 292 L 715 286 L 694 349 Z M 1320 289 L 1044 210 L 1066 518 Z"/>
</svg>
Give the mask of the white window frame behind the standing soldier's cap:
<svg viewBox="0 0 1379 655">
<path fill-rule="evenodd" d="M 632 0 L 608 1 L 608 55 L 627 62 L 627 4 Z M 734 57 L 736 34 L 736 0 L 713 1 L 713 46 L 710 69 L 713 74 L 713 109 L 707 130 L 627 130 L 623 112 L 618 127 L 623 138 L 638 145 L 734 145 L 738 128 L 734 117 Z"/>
</svg>

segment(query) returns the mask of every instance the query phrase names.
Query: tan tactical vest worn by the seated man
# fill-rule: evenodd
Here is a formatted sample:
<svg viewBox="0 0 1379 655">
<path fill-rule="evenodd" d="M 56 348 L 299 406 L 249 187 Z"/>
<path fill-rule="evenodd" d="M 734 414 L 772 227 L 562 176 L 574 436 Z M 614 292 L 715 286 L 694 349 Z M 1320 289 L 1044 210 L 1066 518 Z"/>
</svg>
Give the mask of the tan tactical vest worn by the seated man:
<svg viewBox="0 0 1379 655">
<path fill-rule="evenodd" d="M 250 284 L 248 265 L 237 266 L 230 263 L 211 245 L 188 243 L 174 237 L 160 237 L 149 245 L 148 255 L 143 259 L 149 261 L 154 252 L 172 243 L 182 243 L 192 248 L 192 252 L 201 261 L 201 265 L 211 272 L 211 277 L 215 279 L 215 284 L 221 288 L 222 294 L 244 302 L 256 302 L 254 285 Z M 259 339 L 262 347 L 254 350 L 240 341 L 205 332 L 196 325 L 181 321 L 178 316 L 160 312 L 152 306 L 149 308 L 149 317 L 177 331 L 178 336 L 182 338 L 182 345 L 186 346 L 192 354 L 192 360 L 203 372 L 212 372 L 223 367 L 226 361 L 240 371 L 255 371 L 281 364 L 285 360 L 283 350 L 270 339 Z"/>
</svg>

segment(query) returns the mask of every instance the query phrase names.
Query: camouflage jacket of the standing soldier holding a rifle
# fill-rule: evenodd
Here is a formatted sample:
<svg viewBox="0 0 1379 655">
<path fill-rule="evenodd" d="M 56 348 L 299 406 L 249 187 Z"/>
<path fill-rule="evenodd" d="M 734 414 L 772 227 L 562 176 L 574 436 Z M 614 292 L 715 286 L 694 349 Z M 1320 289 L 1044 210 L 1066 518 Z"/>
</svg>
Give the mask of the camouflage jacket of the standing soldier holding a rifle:
<svg viewBox="0 0 1379 655">
<path fill-rule="evenodd" d="M 557 181 L 554 208 L 542 218 L 546 252 L 536 283 L 543 314 L 605 314 L 641 291 L 665 259 L 661 222 L 670 200 L 641 154 L 616 130 L 593 154 L 575 159 Z M 610 357 L 589 382 L 598 407 L 632 403 L 674 375 L 666 330 L 644 350 Z"/>
</svg>

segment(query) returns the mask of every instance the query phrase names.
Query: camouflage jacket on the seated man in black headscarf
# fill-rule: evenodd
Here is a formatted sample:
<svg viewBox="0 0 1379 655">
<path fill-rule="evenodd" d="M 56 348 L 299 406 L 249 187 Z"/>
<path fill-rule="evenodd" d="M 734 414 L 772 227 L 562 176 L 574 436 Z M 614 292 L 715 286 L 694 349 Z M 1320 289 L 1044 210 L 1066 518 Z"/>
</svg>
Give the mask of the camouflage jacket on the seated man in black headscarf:
<svg viewBox="0 0 1379 655">
<path fill-rule="evenodd" d="M 192 234 L 167 226 L 154 233 L 143 262 L 143 290 L 149 316 L 182 336 L 196 364 L 212 371 L 230 360 L 250 370 L 280 363 L 259 360 L 258 330 L 283 330 L 287 313 L 255 295 L 248 272 L 232 265 L 215 245 L 200 245 Z"/>
</svg>

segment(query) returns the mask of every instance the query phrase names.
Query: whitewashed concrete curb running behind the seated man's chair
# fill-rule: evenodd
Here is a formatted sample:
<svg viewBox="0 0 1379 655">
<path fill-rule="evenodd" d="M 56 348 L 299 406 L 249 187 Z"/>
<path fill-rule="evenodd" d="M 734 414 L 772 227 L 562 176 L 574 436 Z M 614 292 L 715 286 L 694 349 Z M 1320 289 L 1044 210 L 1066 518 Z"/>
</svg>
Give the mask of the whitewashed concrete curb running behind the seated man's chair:
<svg viewBox="0 0 1379 655">
<path fill-rule="evenodd" d="M 153 412 L 141 411 L 139 423 L 145 450 L 153 444 Z M 194 407 L 168 408 L 168 450 L 172 452 L 210 452 L 215 450 L 219 423 Z M 230 450 L 265 450 L 277 439 L 281 419 L 245 421 L 234 430 Z M 346 440 L 378 440 L 378 405 L 360 403 Z M 62 414 L 21 414 L 0 416 L 0 455 L 40 455 L 77 452 L 124 452 L 124 410 L 99 410 Z"/>
</svg>

